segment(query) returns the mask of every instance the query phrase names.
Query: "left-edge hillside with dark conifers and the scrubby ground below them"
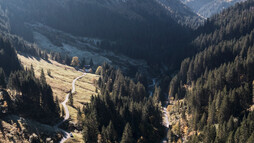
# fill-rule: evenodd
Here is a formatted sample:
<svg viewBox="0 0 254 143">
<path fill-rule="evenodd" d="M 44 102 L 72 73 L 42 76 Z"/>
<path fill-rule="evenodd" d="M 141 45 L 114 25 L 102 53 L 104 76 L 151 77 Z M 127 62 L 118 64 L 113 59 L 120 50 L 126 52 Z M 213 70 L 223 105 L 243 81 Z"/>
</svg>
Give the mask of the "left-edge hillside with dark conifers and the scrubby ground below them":
<svg viewBox="0 0 254 143">
<path fill-rule="evenodd" d="M 24 70 L 12 40 L 3 35 L 0 39 L 0 141 L 28 142 L 33 136 L 36 141 L 58 140 L 61 134 L 49 126 L 60 118 L 58 103 L 44 73 L 39 79 L 32 69 Z"/>
</svg>

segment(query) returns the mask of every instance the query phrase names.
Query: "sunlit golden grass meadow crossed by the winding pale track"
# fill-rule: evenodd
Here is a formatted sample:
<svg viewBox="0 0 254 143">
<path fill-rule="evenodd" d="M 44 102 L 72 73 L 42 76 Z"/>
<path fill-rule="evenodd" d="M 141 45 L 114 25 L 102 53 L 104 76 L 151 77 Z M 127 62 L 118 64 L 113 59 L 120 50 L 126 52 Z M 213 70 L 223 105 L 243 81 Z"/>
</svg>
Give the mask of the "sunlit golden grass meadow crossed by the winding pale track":
<svg viewBox="0 0 254 143">
<path fill-rule="evenodd" d="M 25 68 L 30 68 L 33 65 L 37 77 L 40 76 L 41 69 L 44 69 L 47 83 L 52 87 L 54 96 L 57 96 L 60 102 L 64 101 L 67 92 L 71 90 L 72 81 L 82 75 L 81 72 L 73 67 L 60 64 L 56 61 L 50 60 L 48 62 L 23 55 L 18 55 L 18 58 Z M 47 74 L 48 70 L 51 72 L 51 76 Z M 87 74 L 76 82 L 76 93 L 73 95 L 74 107 L 68 106 L 72 122 L 77 122 L 77 107 L 82 107 L 84 103 L 90 101 L 91 95 L 96 95 L 94 82 L 98 78 L 99 76 L 95 74 Z M 69 139 L 67 142 L 81 142 L 82 135 L 80 133 L 74 133 L 73 135 L 74 138 Z"/>
</svg>

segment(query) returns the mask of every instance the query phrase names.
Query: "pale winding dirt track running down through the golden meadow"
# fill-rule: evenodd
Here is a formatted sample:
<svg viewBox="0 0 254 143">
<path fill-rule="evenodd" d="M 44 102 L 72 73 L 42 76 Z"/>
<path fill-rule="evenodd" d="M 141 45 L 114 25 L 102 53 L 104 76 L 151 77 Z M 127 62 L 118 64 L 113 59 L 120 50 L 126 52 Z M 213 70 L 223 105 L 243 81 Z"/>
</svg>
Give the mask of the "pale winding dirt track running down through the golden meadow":
<svg viewBox="0 0 254 143">
<path fill-rule="evenodd" d="M 77 77 L 76 79 L 74 79 L 74 80 L 72 81 L 72 91 L 71 91 L 72 94 L 74 94 L 75 91 L 76 91 L 76 88 L 75 88 L 75 83 L 76 83 L 76 81 L 77 81 L 78 79 L 84 77 L 85 75 L 86 75 L 86 73 L 84 73 L 82 76 L 79 76 L 79 77 Z M 67 132 L 67 131 L 65 131 L 65 130 L 59 128 L 59 126 L 60 126 L 61 124 L 63 124 L 65 121 L 67 121 L 67 120 L 70 118 L 70 112 L 69 112 L 68 107 L 67 107 L 67 105 L 66 105 L 67 102 L 68 102 L 68 100 L 69 100 L 69 96 L 70 96 L 70 93 L 68 93 L 68 94 L 66 95 L 65 100 L 61 103 L 61 104 L 63 105 L 64 111 L 65 111 L 65 117 L 64 117 L 64 119 L 63 119 L 61 122 L 59 122 L 58 124 L 56 124 L 56 125 L 54 126 L 56 129 L 58 129 L 59 131 L 61 131 L 61 132 L 64 134 L 64 137 L 62 138 L 62 140 L 60 141 L 60 143 L 64 143 L 68 138 L 71 137 L 71 135 L 70 135 L 69 132 Z"/>
</svg>

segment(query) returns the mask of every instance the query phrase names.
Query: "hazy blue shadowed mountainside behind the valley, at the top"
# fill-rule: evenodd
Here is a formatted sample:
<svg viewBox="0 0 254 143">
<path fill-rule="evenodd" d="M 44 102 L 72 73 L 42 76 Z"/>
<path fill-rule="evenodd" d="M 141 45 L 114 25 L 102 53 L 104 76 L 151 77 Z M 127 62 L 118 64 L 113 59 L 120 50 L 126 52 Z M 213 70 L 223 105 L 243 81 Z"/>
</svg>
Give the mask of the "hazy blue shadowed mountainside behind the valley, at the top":
<svg viewBox="0 0 254 143">
<path fill-rule="evenodd" d="M 11 32 L 26 40 L 34 40 L 27 24 L 41 23 L 72 35 L 101 39 L 101 50 L 152 64 L 172 61 L 169 64 L 174 66 L 190 53 L 182 52 L 188 49 L 184 43 L 191 36 L 187 27 L 201 21 L 177 0 L 2 0 L 1 5 L 8 9 Z"/>
</svg>

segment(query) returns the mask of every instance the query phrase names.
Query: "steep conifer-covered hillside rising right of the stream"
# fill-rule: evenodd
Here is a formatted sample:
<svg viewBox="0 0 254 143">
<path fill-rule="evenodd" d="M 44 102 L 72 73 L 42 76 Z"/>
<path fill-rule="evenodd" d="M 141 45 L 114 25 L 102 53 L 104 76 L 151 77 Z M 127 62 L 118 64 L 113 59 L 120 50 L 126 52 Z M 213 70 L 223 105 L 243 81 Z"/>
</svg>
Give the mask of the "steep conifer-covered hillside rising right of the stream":
<svg viewBox="0 0 254 143">
<path fill-rule="evenodd" d="M 193 45 L 201 51 L 182 62 L 170 83 L 171 101 L 184 99 L 175 111 L 180 128 L 171 135 L 190 142 L 253 142 L 253 7 L 253 0 L 237 4 L 199 29 Z"/>
</svg>

